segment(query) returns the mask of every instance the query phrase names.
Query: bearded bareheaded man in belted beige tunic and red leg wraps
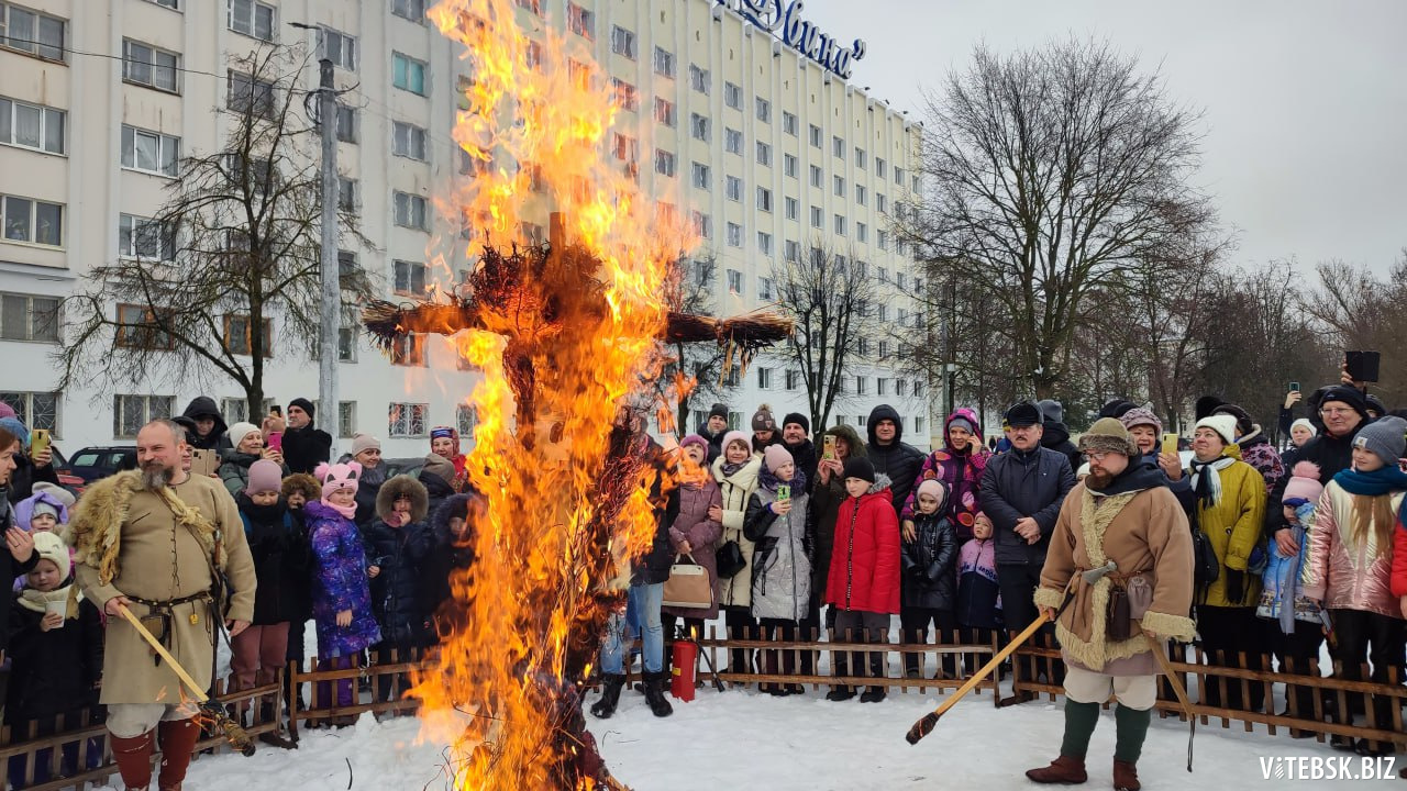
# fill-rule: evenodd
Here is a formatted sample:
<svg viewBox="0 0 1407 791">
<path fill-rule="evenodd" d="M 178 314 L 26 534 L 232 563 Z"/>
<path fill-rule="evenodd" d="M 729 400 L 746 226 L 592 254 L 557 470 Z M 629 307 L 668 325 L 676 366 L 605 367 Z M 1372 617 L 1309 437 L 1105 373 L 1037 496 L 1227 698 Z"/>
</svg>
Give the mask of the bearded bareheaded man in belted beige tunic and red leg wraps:
<svg viewBox="0 0 1407 791">
<path fill-rule="evenodd" d="M 77 583 L 108 614 L 101 702 L 128 788 L 151 784 L 158 738 L 159 788 L 180 788 L 200 726 L 180 678 L 153 659 L 121 608 L 141 618 L 201 688 L 212 680 L 214 619 L 238 635 L 253 616 L 255 566 L 239 510 L 218 480 L 191 476 L 187 459 L 182 426 L 146 424 L 136 435 L 138 469 L 89 487 L 70 526 Z M 228 595 L 219 577 L 229 581 Z"/>
</svg>

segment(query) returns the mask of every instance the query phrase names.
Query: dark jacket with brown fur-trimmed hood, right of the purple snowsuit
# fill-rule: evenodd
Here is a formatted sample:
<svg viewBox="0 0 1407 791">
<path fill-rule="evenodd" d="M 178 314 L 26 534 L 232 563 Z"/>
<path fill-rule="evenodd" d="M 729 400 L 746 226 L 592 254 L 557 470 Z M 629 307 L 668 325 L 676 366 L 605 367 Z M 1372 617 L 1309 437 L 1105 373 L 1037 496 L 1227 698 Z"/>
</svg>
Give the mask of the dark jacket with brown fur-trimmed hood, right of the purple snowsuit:
<svg viewBox="0 0 1407 791">
<path fill-rule="evenodd" d="M 401 495 L 411 498 L 409 524 L 391 526 L 388 518 Z M 435 532 L 425 521 L 428 495 L 411 476 L 395 476 L 381 484 L 376 497 L 376 521 L 367 528 L 367 566 L 380 569 L 371 578 L 371 611 L 381 626 L 381 639 L 398 646 L 429 642 L 429 614 L 421 594 L 422 563 L 435 548 Z"/>
</svg>

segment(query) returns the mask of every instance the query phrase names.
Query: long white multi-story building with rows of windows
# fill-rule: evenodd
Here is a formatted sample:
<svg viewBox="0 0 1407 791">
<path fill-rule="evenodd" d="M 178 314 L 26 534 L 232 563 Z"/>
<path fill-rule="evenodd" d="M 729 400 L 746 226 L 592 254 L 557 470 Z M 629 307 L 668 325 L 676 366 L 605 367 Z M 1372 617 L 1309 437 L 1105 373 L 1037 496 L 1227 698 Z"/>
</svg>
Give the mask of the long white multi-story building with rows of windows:
<svg viewBox="0 0 1407 791">
<path fill-rule="evenodd" d="M 129 441 L 146 418 L 179 412 L 197 394 L 222 403 L 229 422 L 246 415 L 232 381 L 191 372 L 55 393 L 52 353 L 63 331 L 59 301 L 93 262 L 141 253 L 131 227 L 162 205 L 173 158 L 221 148 L 229 117 L 212 108 L 238 80 L 229 58 L 269 41 L 332 58 L 338 86 L 350 89 L 339 169 L 376 249 L 346 253 L 380 274 L 388 298 L 422 296 L 443 272 L 425 262 L 443 256 L 467 269 L 459 218 L 440 217 L 435 197 L 469 177 L 450 129 L 473 62 L 425 21 L 428 4 L 0 0 L 0 398 L 69 450 Z M 917 190 L 917 129 L 848 84 L 834 58 L 827 69 L 712 0 L 516 4 L 526 30 L 581 38 L 613 79 L 626 108 L 611 155 L 637 169 L 647 193 L 682 196 L 702 236 L 694 255 L 715 262 L 719 312 L 772 301 L 772 267 L 825 245 L 879 280 L 877 310 L 891 332 L 909 325 L 917 335 L 906 294 L 922 284 L 888 231 L 889 215 Z M 303 83 L 315 87 L 315 66 Z M 405 365 L 364 338 L 343 341 L 340 448 L 369 432 L 388 456 L 421 455 L 432 425 L 471 425 L 461 403 L 477 374 L 449 341 L 419 339 L 397 356 Z M 881 342 L 893 341 L 872 339 L 865 352 L 879 353 Z M 315 397 L 305 339 L 280 338 L 276 325 L 273 348 L 269 396 Z M 924 383 L 871 365 L 857 370 L 833 419 L 862 426 L 875 404 L 891 403 L 908 438 L 924 445 Z M 727 401 L 739 424 L 761 403 L 778 417 L 806 411 L 796 366 L 781 353 L 758 357 Z M 326 410 L 318 417 L 333 422 Z"/>
</svg>

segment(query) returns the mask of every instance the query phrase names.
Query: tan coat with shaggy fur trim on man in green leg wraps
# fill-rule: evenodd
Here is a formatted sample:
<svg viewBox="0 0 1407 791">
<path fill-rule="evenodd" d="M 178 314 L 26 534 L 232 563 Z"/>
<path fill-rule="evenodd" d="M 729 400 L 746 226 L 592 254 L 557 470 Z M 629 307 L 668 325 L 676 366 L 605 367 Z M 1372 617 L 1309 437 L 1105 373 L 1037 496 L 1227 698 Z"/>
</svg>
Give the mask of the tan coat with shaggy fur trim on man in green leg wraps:
<svg viewBox="0 0 1407 791">
<path fill-rule="evenodd" d="M 1086 584 L 1083 571 L 1109 560 L 1117 571 Z M 1133 636 L 1120 642 L 1104 632 L 1114 584 L 1128 591 L 1134 618 Z M 1067 663 L 1109 676 L 1151 676 L 1157 662 L 1140 622 L 1159 636 L 1190 640 L 1192 532 L 1168 487 L 1102 495 L 1076 484 L 1055 519 L 1037 607 L 1058 608 L 1067 588 L 1075 601 L 1055 624 Z"/>
</svg>

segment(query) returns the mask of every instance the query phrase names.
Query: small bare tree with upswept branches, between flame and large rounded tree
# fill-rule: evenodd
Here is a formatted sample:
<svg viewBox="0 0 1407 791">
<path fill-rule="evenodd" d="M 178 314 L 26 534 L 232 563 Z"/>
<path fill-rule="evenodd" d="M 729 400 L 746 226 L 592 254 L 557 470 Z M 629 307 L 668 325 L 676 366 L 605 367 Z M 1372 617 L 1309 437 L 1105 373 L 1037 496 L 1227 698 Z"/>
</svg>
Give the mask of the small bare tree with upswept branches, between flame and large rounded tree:
<svg viewBox="0 0 1407 791">
<path fill-rule="evenodd" d="M 794 321 L 791 359 L 806 386 L 810 425 L 829 425 L 830 411 L 854 377 L 860 353 L 874 329 L 875 287 L 854 255 L 840 255 L 817 239 L 799 260 L 772 270 L 777 304 Z"/>
</svg>

